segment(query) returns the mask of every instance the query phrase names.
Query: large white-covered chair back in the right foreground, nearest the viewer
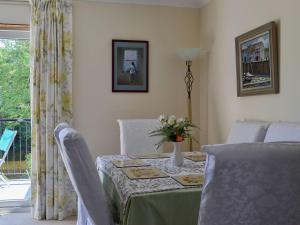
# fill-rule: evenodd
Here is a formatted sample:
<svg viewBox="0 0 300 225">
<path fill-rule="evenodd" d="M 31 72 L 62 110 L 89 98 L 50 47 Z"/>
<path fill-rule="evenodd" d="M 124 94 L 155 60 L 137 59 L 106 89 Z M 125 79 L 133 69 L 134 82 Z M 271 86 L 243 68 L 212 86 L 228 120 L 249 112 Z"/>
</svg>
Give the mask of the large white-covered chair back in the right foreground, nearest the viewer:
<svg viewBox="0 0 300 225">
<path fill-rule="evenodd" d="M 198 225 L 297 225 L 300 143 L 205 146 Z"/>
</svg>

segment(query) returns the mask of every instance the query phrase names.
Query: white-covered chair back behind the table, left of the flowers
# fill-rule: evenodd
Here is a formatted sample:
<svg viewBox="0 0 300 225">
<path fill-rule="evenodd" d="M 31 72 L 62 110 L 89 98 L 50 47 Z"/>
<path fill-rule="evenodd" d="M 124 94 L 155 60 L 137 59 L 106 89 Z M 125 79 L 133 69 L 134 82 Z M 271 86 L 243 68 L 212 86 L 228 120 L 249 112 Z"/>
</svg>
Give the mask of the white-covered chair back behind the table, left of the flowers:
<svg viewBox="0 0 300 225">
<path fill-rule="evenodd" d="M 155 144 L 161 137 L 150 137 L 150 132 L 158 129 L 157 119 L 126 119 L 117 120 L 120 126 L 121 154 L 155 153 Z"/>
</svg>

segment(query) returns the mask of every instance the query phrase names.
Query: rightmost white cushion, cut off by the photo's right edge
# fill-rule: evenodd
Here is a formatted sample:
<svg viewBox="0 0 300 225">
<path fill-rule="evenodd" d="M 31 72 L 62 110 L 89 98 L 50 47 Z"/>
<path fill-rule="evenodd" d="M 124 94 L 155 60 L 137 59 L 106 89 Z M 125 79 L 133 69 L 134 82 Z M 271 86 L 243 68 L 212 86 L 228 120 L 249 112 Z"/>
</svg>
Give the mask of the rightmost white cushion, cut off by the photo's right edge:
<svg viewBox="0 0 300 225">
<path fill-rule="evenodd" d="M 300 142 L 300 123 L 271 123 L 264 142 Z"/>
</svg>

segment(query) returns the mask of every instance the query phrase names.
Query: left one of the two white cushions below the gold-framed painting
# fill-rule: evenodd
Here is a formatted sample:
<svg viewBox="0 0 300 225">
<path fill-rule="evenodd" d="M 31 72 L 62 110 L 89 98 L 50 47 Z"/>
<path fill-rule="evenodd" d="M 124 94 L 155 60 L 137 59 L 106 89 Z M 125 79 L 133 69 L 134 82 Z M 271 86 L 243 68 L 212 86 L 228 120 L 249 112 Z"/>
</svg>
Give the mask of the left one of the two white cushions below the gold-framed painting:
<svg viewBox="0 0 300 225">
<path fill-rule="evenodd" d="M 258 121 L 236 121 L 232 126 L 227 144 L 263 142 L 269 124 Z"/>
</svg>

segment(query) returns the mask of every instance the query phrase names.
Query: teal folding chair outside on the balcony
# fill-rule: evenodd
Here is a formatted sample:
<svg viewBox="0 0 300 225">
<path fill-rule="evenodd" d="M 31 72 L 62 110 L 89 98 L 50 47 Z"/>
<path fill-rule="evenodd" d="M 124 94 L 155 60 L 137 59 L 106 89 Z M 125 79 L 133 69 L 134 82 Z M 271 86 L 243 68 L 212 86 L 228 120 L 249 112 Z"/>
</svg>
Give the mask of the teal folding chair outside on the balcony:
<svg viewBox="0 0 300 225">
<path fill-rule="evenodd" d="M 2 158 L 0 158 L 0 169 L 5 162 L 5 158 L 7 157 L 8 151 L 17 135 L 17 131 L 5 129 L 1 139 L 0 139 L 0 152 L 3 153 Z M 5 175 L 0 172 L 0 180 L 2 180 L 5 184 L 8 185 L 7 179 Z"/>
</svg>

